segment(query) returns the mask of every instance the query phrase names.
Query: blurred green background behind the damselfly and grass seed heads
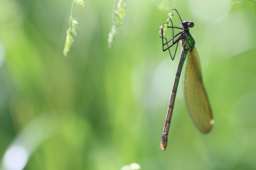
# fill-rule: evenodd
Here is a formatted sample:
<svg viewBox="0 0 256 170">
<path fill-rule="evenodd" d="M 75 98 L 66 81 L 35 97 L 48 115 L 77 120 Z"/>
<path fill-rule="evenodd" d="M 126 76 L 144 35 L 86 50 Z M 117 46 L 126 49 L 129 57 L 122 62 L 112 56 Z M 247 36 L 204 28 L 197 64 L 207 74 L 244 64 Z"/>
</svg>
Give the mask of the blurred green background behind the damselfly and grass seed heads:
<svg viewBox="0 0 256 170">
<path fill-rule="evenodd" d="M 256 168 L 256 3 L 175 1 L 192 20 L 215 125 L 203 135 L 178 87 L 166 151 L 159 149 L 179 62 L 162 51 L 161 1 L 129 1 L 118 39 L 114 1 L 0 1 L 2 169 Z M 115 1 L 115 9 L 118 1 Z M 178 52 L 179 56 L 180 52 Z M 25 167 L 24 167 L 25 166 Z"/>
</svg>

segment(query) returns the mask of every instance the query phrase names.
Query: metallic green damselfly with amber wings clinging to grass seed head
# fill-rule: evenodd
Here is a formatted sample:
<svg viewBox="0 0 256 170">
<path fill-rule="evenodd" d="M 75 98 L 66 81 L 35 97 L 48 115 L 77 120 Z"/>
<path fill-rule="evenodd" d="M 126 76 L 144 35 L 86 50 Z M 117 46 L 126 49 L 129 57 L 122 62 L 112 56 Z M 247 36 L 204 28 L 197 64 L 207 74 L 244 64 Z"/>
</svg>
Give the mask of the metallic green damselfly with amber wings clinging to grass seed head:
<svg viewBox="0 0 256 170">
<path fill-rule="evenodd" d="M 181 27 L 175 27 L 175 25 L 173 24 L 172 18 L 175 11 L 177 12 L 178 19 L 181 22 Z M 163 150 L 165 150 L 167 146 L 167 135 L 170 127 L 175 96 L 177 93 L 177 87 L 179 83 L 180 74 L 183 68 L 183 64 L 183 95 L 188 113 L 192 121 L 194 122 L 195 126 L 201 133 L 210 132 L 212 125 L 214 124 L 214 120 L 212 118 L 211 113 L 211 107 L 208 101 L 208 97 L 206 95 L 204 84 L 202 82 L 201 66 L 198 53 L 195 48 L 195 41 L 194 38 L 189 33 L 189 28 L 194 27 L 194 23 L 189 21 L 182 21 L 176 9 L 173 9 L 172 16 L 169 16 L 170 18 L 167 20 L 168 22 L 164 23 L 160 27 L 161 30 L 159 31 L 161 34 L 160 37 L 162 38 L 163 51 L 168 50 L 172 60 L 174 60 L 179 41 L 181 41 L 182 53 L 180 56 L 179 66 L 173 85 L 172 95 L 167 110 L 162 140 L 160 144 L 160 148 Z M 170 39 L 166 38 L 164 32 L 165 29 L 169 29 L 172 31 L 172 36 Z M 175 35 L 175 30 L 181 31 Z M 170 48 L 174 45 L 176 47 L 174 48 L 174 51 L 172 53 Z"/>
</svg>

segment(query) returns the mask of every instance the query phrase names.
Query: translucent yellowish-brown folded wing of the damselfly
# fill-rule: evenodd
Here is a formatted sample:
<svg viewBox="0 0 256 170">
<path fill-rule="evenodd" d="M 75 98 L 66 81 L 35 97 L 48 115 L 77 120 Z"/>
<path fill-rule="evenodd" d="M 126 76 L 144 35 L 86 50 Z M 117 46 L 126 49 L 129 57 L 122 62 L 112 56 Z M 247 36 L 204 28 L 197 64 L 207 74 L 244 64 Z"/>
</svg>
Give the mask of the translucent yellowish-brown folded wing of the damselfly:
<svg viewBox="0 0 256 170">
<path fill-rule="evenodd" d="M 188 51 L 183 70 L 183 95 L 188 113 L 202 133 L 208 133 L 214 120 L 202 81 L 201 66 L 196 48 Z"/>
</svg>

